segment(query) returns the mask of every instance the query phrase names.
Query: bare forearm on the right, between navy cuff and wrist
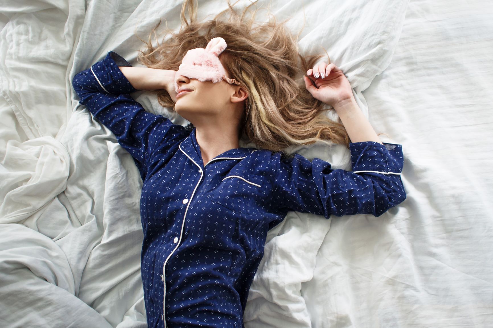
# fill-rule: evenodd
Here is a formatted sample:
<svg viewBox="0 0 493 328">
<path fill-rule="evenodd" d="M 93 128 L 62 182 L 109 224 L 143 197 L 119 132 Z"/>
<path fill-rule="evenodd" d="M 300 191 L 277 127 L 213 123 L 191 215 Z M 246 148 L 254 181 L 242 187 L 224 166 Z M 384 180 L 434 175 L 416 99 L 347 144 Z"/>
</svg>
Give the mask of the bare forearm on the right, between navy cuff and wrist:
<svg viewBox="0 0 493 328">
<path fill-rule="evenodd" d="M 334 105 L 334 109 L 346 128 L 351 142 L 376 141 L 382 143 L 354 98 Z"/>
</svg>

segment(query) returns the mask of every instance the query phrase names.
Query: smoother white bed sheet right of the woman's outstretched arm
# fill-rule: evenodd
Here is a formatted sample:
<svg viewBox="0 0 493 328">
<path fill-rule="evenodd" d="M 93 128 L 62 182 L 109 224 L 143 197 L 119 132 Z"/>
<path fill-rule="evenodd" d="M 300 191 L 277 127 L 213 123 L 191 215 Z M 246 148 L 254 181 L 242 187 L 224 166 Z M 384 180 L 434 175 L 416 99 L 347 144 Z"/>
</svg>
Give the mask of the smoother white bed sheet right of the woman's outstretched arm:
<svg viewBox="0 0 493 328">
<path fill-rule="evenodd" d="M 491 1 L 410 1 L 363 91 L 375 130 L 403 144 L 407 199 L 332 219 L 301 286 L 312 327 L 493 327 L 492 14 Z"/>
</svg>

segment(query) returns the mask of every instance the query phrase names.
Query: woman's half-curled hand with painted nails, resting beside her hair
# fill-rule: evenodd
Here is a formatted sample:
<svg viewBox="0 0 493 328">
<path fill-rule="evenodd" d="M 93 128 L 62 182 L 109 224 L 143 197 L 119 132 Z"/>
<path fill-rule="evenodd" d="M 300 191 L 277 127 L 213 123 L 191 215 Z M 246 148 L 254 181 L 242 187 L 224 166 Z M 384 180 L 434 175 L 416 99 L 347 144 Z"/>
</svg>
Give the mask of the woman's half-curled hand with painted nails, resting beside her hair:
<svg viewBox="0 0 493 328">
<path fill-rule="evenodd" d="M 332 107 L 342 101 L 353 98 L 351 84 L 346 78 L 346 75 L 335 64 L 327 65 L 322 63 L 314 68 L 310 68 L 307 71 L 307 75 L 303 76 L 305 87 L 312 94 L 313 98 Z M 315 86 L 309 76 L 315 79 Z"/>
</svg>

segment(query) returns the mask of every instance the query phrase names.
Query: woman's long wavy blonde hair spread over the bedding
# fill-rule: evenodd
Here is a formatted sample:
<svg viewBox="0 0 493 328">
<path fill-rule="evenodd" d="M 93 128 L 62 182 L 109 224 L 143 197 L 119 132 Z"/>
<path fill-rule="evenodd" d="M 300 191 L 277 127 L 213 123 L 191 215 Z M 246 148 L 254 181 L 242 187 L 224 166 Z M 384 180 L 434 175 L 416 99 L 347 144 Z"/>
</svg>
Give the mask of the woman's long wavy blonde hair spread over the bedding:
<svg viewBox="0 0 493 328">
<path fill-rule="evenodd" d="M 291 155 L 283 151 L 286 147 L 317 141 L 344 144 L 349 148 L 350 138 L 344 126 L 326 116 L 325 104 L 313 98 L 302 79 L 323 56 L 298 53 L 297 39 L 301 31 L 295 39 L 284 27 L 288 20 L 277 24 L 275 18 L 272 22 L 269 18 L 267 23 L 256 24 L 254 18 L 258 9 L 247 18 L 253 4 L 255 2 L 238 14 L 228 0 L 228 9 L 212 20 L 199 23 L 196 22 L 197 5 L 193 0 L 185 0 L 180 31 L 174 33 L 166 28 L 159 43 L 156 35 L 159 22 L 147 41 L 141 39 L 146 46 L 139 50 L 137 60 L 150 68 L 177 70 L 189 49 L 205 48 L 213 37 L 220 36 L 228 47 L 219 59 L 231 78 L 240 81 L 249 95 L 239 139 L 246 136 L 260 148 L 281 151 L 287 156 Z M 186 11 L 190 22 L 185 18 Z M 221 19 L 226 13 L 229 19 Z M 165 40 L 168 32 L 173 37 Z M 160 90 L 157 96 L 162 106 L 174 110 L 175 103 L 166 90 Z"/>
</svg>

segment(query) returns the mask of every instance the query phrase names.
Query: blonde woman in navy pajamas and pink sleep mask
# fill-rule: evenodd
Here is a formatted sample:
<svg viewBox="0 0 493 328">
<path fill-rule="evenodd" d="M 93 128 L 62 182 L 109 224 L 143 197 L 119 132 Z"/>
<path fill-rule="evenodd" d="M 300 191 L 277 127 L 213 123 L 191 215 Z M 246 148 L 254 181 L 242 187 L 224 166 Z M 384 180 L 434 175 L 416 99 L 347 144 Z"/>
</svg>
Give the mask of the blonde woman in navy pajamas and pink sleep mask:
<svg viewBox="0 0 493 328">
<path fill-rule="evenodd" d="M 401 146 L 380 141 L 343 72 L 314 66 L 320 56 L 307 63 L 282 24 L 252 28 L 228 10 L 229 21 L 192 17 L 174 38 L 147 43 L 148 68 L 109 52 L 73 79 L 141 173 L 148 327 L 242 327 L 267 232 L 288 211 L 380 216 L 406 198 Z M 129 95 L 137 90 L 161 90 L 160 104 L 190 128 L 146 112 Z M 240 147 L 245 136 L 259 149 Z M 352 171 L 282 151 L 328 140 L 348 146 Z"/>
</svg>

